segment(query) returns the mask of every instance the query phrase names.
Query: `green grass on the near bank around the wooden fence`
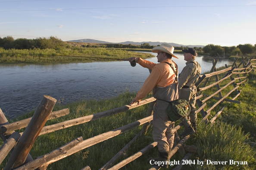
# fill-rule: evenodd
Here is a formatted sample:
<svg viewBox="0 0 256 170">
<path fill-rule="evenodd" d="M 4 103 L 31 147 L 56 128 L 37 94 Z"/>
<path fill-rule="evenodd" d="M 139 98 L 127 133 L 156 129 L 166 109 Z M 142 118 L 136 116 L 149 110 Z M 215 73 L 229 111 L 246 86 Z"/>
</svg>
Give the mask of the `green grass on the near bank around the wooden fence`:
<svg viewBox="0 0 256 170">
<path fill-rule="evenodd" d="M 218 69 L 220 70 L 220 69 Z M 220 75 L 221 78 L 224 74 Z M 206 165 L 203 166 L 197 164 L 185 165 L 183 170 L 255 170 L 256 169 L 256 73 L 250 73 L 248 75 L 249 80 L 243 85 L 240 85 L 239 90 L 242 89 L 240 96 L 236 99 L 241 101 L 241 104 L 224 102 L 220 103 L 211 111 L 211 116 L 215 115 L 223 106 L 226 106 L 219 118 L 216 119 L 214 124 L 205 124 L 200 121 L 202 118 L 200 113 L 198 114 L 198 133 L 193 134 L 187 145 L 197 146 L 198 152 L 193 153 L 190 156 L 190 160 L 194 161 L 247 161 L 248 165 Z M 209 81 L 215 81 L 215 77 Z M 230 80 L 221 83 L 221 87 L 226 85 Z M 238 82 L 238 80 L 237 80 Z M 203 84 L 203 83 L 202 83 Z M 232 85 L 228 86 L 222 91 L 222 94 L 226 94 L 233 88 Z M 204 94 L 212 94 L 217 88 L 212 87 Z M 70 114 L 61 118 L 47 121 L 47 125 L 55 124 L 58 122 L 66 121 L 73 118 L 78 118 L 85 115 L 91 115 L 97 112 L 117 108 L 128 104 L 134 97 L 135 93 L 124 93 L 118 97 L 106 99 L 106 100 L 84 100 L 75 103 L 69 103 L 65 106 L 56 104 L 54 110 L 63 108 L 69 108 Z M 223 96 L 224 96 L 223 95 Z M 233 92 L 229 99 L 236 94 Z M 151 97 L 149 94 L 146 98 Z M 217 100 L 211 99 L 207 101 L 207 106 L 204 110 L 209 109 Z M 34 146 L 31 149 L 30 154 L 33 158 L 44 155 L 77 137 L 82 136 L 84 139 L 94 137 L 98 134 L 105 133 L 107 131 L 116 129 L 123 125 L 129 124 L 141 118 L 144 118 L 147 114 L 148 104 L 137 107 L 135 109 L 121 112 L 113 116 L 106 118 L 100 118 L 95 121 L 87 122 L 77 126 L 69 127 L 67 129 L 55 131 L 50 134 L 42 135 L 37 138 Z M 20 117 L 24 119 L 31 117 L 33 112 L 28 113 Z M 12 120 L 16 121 L 16 120 Z M 180 123 L 179 121 L 176 124 Z M 48 169 L 53 170 L 81 170 L 85 166 L 90 166 L 92 170 L 98 170 L 106 162 L 108 162 L 119 150 L 121 150 L 138 132 L 141 127 L 134 128 L 127 131 L 117 137 L 113 137 L 104 142 L 98 143 L 80 152 L 77 152 L 67 158 L 50 164 Z M 20 130 L 23 131 L 23 130 Z M 183 127 L 178 130 L 180 134 L 184 131 Z M 143 149 L 147 145 L 153 142 L 152 127 L 146 136 L 139 137 L 135 143 L 125 152 L 125 155 L 119 158 L 119 161 L 124 158 L 128 158 L 140 149 Z M 3 143 L 1 143 L 3 144 Z M 151 166 L 147 163 L 147 159 L 150 157 L 157 157 L 157 148 L 154 148 L 142 155 L 137 160 L 131 162 L 122 168 L 122 170 L 148 170 Z M 9 158 L 9 156 L 8 156 Z M 6 158 L 0 165 L 3 168 L 6 164 Z M 172 160 L 181 160 L 183 157 L 177 152 Z M 169 169 L 173 169 L 169 167 Z"/>
</svg>

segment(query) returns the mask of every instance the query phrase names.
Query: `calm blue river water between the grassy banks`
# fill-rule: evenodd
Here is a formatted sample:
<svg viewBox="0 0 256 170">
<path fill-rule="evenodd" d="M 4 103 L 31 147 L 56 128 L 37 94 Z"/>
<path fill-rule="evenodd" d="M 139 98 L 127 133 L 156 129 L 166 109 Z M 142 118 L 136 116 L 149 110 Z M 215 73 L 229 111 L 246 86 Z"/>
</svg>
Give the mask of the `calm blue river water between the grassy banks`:
<svg viewBox="0 0 256 170">
<path fill-rule="evenodd" d="M 155 53 L 152 53 L 155 54 Z M 179 73 L 185 66 L 184 56 L 175 54 Z M 157 63 L 157 58 L 149 61 Z M 212 67 L 212 58 L 196 59 L 202 73 Z M 231 64 L 221 59 L 217 68 Z M 72 64 L 0 64 L 0 108 L 14 118 L 35 109 L 43 95 L 69 103 L 82 99 L 115 97 L 125 91 L 138 91 L 149 75 L 148 69 L 131 67 L 128 61 Z"/>
</svg>

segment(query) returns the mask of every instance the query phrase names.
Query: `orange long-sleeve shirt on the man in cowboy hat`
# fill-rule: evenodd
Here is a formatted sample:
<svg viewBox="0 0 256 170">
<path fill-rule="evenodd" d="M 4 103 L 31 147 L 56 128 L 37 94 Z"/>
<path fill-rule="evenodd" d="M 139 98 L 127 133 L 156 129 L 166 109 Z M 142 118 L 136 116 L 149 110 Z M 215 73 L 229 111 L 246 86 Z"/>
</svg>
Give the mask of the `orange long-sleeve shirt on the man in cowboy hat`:
<svg viewBox="0 0 256 170">
<path fill-rule="evenodd" d="M 152 63 L 150 61 L 139 58 L 137 63 L 140 64 L 142 67 L 151 69 L 152 72 L 145 80 L 144 84 L 142 85 L 136 97 L 134 98 L 136 101 L 143 99 L 147 94 L 150 93 L 150 91 L 153 90 L 155 86 L 166 87 L 168 85 L 171 85 L 175 81 L 175 73 L 173 72 L 170 65 L 166 64 L 165 62 L 168 62 L 175 66 L 174 62 L 170 58 L 166 59 L 165 61 L 162 61 L 159 64 Z"/>
</svg>

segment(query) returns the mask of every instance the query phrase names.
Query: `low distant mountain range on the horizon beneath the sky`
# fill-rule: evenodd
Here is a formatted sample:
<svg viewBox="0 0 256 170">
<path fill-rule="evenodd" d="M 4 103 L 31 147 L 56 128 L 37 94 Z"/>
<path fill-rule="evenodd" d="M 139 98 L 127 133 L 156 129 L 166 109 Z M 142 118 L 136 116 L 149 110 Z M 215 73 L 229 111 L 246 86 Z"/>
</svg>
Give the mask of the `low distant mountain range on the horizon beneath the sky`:
<svg viewBox="0 0 256 170">
<path fill-rule="evenodd" d="M 132 44 L 132 45 L 141 45 L 144 43 L 149 43 L 150 46 L 157 46 L 157 45 L 161 45 L 164 42 L 133 42 L 133 41 L 125 41 L 125 42 L 121 42 L 121 43 L 110 43 L 110 42 L 106 42 L 106 41 L 99 41 L 99 40 L 95 40 L 95 39 L 78 39 L 78 40 L 71 40 L 68 42 L 78 42 L 78 43 L 103 43 L 103 44 Z M 176 43 L 166 43 L 166 44 L 170 44 L 171 46 L 174 47 L 204 47 L 204 46 L 199 46 L 199 45 L 182 45 L 182 44 L 176 44 Z"/>
</svg>

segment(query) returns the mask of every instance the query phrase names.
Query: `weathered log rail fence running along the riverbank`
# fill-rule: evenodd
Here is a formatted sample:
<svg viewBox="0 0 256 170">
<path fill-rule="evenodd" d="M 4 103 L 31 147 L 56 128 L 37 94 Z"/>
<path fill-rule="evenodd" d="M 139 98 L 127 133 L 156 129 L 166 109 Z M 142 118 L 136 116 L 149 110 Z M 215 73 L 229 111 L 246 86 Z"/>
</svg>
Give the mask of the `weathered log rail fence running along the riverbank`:
<svg viewBox="0 0 256 170">
<path fill-rule="evenodd" d="M 247 62 L 245 61 L 247 60 Z M 225 107 L 222 107 L 222 109 L 217 112 L 213 118 L 208 121 L 208 117 L 211 114 L 212 109 L 215 108 L 219 103 L 223 101 L 227 102 L 233 102 L 233 103 L 240 103 L 240 101 L 235 100 L 239 95 L 240 91 L 237 89 L 239 88 L 239 85 L 247 81 L 246 74 L 250 73 L 255 66 L 254 63 L 251 61 L 256 61 L 256 59 L 250 58 L 243 58 L 242 62 L 238 64 L 237 66 L 237 59 L 234 60 L 234 64 L 231 67 L 226 66 L 225 69 L 217 71 L 215 66 L 218 62 L 218 60 L 213 60 L 213 66 L 208 74 L 204 74 L 200 76 L 200 79 L 197 81 L 197 113 L 201 113 L 202 119 L 200 121 L 205 121 L 206 123 L 213 123 L 215 119 L 223 112 Z M 241 66 L 241 67 L 240 67 Z M 225 76 L 222 77 L 222 79 L 219 79 L 219 75 L 221 73 L 225 73 Z M 243 74 L 244 76 L 240 77 L 240 74 Z M 207 85 L 207 83 L 212 82 L 209 81 L 212 76 L 215 76 L 215 82 L 212 84 Z M 237 76 L 234 77 L 233 76 Z M 226 82 L 228 79 L 230 79 L 230 82 L 227 82 L 226 85 L 220 85 L 222 82 Z M 245 80 L 242 80 L 245 79 Z M 235 83 L 237 80 L 239 82 Z M 203 83 L 203 85 L 200 86 L 200 84 Z M 234 88 L 232 88 L 228 93 L 226 93 L 224 96 L 222 94 L 223 90 L 227 88 L 229 85 L 233 85 Z M 213 94 L 203 94 L 203 91 L 212 87 L 217 87 L 217 91 L 215 91 Z M 236 96 L 232 99 L 226 99 L 233 91 L 235 91 Z M 215 95 L 219 95 L 219 97 L 215 97 Z M 205 97 L 203 100 L 200 100 L 202 97 Z M 204 108 L 206 106 L 206 101 L 214 98 L 218 100 L 215 104 L 212 106 L 209 106 L 210 108 L 206 111 L 204 111 Z M 60 129 L 68 128 L 71 126 L 75 126 L 78 124 L 83 124 L 89 121 L 93 121 L 99 118 L 103 118 L 109 115 L 115 115 L 119 112 L 124 112 L 129 109 L 133 109 L 138 107 L 137 103 L 134 103 L 133 105 L 126 105 L 121 106 L 119 108 L 107 110 L 104 112 L 95 113 L 93 115 L 84 116 L 81 118 L 75 118 L 68 121 L 63 121 L 60 123 L 52 124 L 49 126 L 44 126 L 47 120 L 58 118 L 63 115 L 69 114 L 69 109 L 62 109 L 59 111 L 52 112 L 53 106 L 56 103 L 56 99 L 50 96 L 44 96 L 41 100 L 41 103 L 37 107 L 34 115 L 32 118 L 27 118 L 22 121 L 16 121 L 13 123 L 10 123 L 5 118 L 2 110 L 0 109 L 0 136 L 1 139 L 4 141 L 3 146 L 0 148 L 0 163 L 3 161 L 3 159 L 6 157 L 6 155 L 9 152 L 12 152 L 6 167 L 4 170 L 46 170 L 47 166 L 55 161 L 58 161 L 62 158 L 66 158 L 69 155 L 72 155 L 78 151 L 81 151 L 82 149 L 88 148 L 90 146 L 93 146 L 97 143 L 100 143 L 104 140 L 108 140 L 112 137 L 115 137 L 119 134 L 124 133 L 125 131 L 131 130 L 134 127 L 140 126 L 142 124 L 142 130 L 140 133 L 138 133 L 134 139 L 132 139 L 120 152 L 118 152 L 112 159 L 110 159 L 109 162 L 107 162 L 103 167 L 100 168 L 100 170 L 118 170 L 121 167 L 125 166 L 126 164 L 130 163 L 131 161 L 134 161 L 153 147 L 157 145 L 156 142 L 151 143 L 144 149 L 141 149 L 134 155 L 131 155 L 129 158 L 126 158 L 125 160 L 119 162 L 118 164 L 114 165 L 116 160 L 122 156 L 125 151 L 134 143 L 134 141 L 142 136 L 147 134 L 147 129 L 150 126 L 150 121 L 153 120 L 153 106 L 155 103 L 155 98 L 151 97 L 149 99 L 143 100 L 140 102 L 139 106 L 142 106 L 144 104 L 150 103 L 147 116 L 145 118 L 142 118 L 138 121 L 135 121 L 131 124 L 127 124 L 125 126 L 116 128 L 112 131 L 108 131 L 106 133 L 91 137 L 89 139 L 83 140 L 82 137 L 78 137 L 77 139 L 65 144 L 64 146 L 61 146 L 60 148 L 53 150 L 52 152 L 42 155 L 40 157 L 37 157 L 35 160 L 31 158 L 29 155 L 30 149 L 33 146 L 35 140 L 38 136 L 43 134 L 48 134 L 53 131 L 58 131 Z M 178 136 L 178 129 L 182 126 L 182 123 L 178 124 L 174 129 L 173 133 L 175 134 L 175 145 L 170 150 L 169 159 L 177 152 L 179 151 L 180 154 L 185 155 L 185 151 L 188 151 L 188 153 L 184 156 L 184 160 L 187 160 L 191 154 L 191 152 L 196 152 L 196 146 L 186 146 L 183 147 L 183 144 L 186 140 L 189 139 L 190 135 L 187 137 L 184 137 L 183 139 L 180 139 Z M 25 128 L 26 127 L 26 128 Z M 23 133 L 15 132 L 16 130 L 25 128 L 25 131 Z M 182 165 L 178 165 L 175 167 L 175 170 L 180 170 Z M 158 170 L 160 167 L 153 166 L 150 168 L 150 170 Z M 82 170 L 91 170 L 89 166 L 84 167 Z"/>
</svg>

